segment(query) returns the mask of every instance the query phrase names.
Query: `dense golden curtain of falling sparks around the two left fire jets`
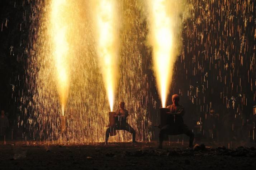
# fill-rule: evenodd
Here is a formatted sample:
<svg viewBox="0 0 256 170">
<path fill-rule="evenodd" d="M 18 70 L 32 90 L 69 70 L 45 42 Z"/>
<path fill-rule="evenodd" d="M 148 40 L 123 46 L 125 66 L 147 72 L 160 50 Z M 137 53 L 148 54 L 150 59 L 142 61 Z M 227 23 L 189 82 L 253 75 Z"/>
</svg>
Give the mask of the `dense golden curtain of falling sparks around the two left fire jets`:
<svg viewBox="0 0 256 170">
<path fill-rule="evenodd" d="M 100 57 L 105 55 L 99 55 L 101 54 L 99 53 L 99 47 L 102 47 L 100 49 L 103 50 L 102 52 L 105 49 L 103 44 L 99 46 L 99 36 L 94 34 L 95 30 L 98 31 L 97 24 L 99 23 L 93 23 L 93 21 L 98 21 L 98 19 L 92 19 L 96 15 L 94 13 L 95 10 L 92 11 L 95 8 L 91 7 L 94 7 L 96 2 L 84 0 L 60 1 L 62 5 L 60 7 L 57 6 L 60 9 L 58 9 L 58 14 L 55 16 L 51 15 L 53 14 L 52 2 L 52 0 L 37 1 L 33 6 L 35 12 L 32 16 L 30 30 L 33 48 L 30 49 L 30 56 L 32 57 L 28 58 L 29 68 L 27 75 L 29 92 L 33 97 L 25 98 L 24 96 L 24 99 L 30 103 L 27 105 L 29 111 L 26 112 L 28 113 L 27 124 L 29 124 L 27 127 L 31 127 L 30 134 L 33 134 L 34 138 L 38 138 L 38 140 L 66 142 L 68 139 L 69 142 L 79 143 L 104 141 L 106 130 L 104 127 L 108 123 L 108 114 L 106 113 L 109 112 L 109 104 L 107 95 L 104 92 L 106 86 L 103 80 L 107 73 L 104 74 L 105 71 L 103 75 L 101 74 L 101 68 L 106 60 Z M 137 130 L 137 139 L 139 141 L 150 140 L 151 133 L 148 130 L 148 126 L 150 126 L 151 122 L 147 112 L 148 88 L 150 85 L 142 86 L 141 83 L 147 82 L 148 79 L 144 73 L 146 67 L 143 67 L 142 63 L 147 61 L 149 56 L 146 55 L 144 57 L 141 55 L 142 51 L 146 52 L 144 50 L 146 47 L 143 44 L 146 29 L 144 29 L 145 26 L 139 17 L 140 6 L 137 6 L 135 0 L 116 2 L 115 11 L 116 9 L 122 9 L 118 13 L 119 17 L 125 21 L 124 26 L 120 27 L 120 34 L 118 35 L 118 29 L 115 30 L 115 35 L 109 34 L 107 31 L 104 32 L 104 30 L 102 30 L 102 34 L 99 34 L 102 37 L 108 36 L 101 43 L 106 43 L 110 36 L 114 36 L 113 38 L 118 36 L 120 40 L 119 47 L 117 44 L 114 44 L 117 45 L 115 48 L 111 46 L 113 48 L 111 54 L 115 54 L 112 57 L 116 59 L 117 53 L 120 52 L 120 65 L 117 64 L 117 60 L 109 58 L 111 59 L 109 61 L 115 61 L 110 69 L 112 71 L 119 70 L 118 74 L 122 75 L 120 76 L 120 82 L 122 83 L 119 83 L 117 87 L 115 87 L 116 82 L 114 81 L 113 86 L 110 84 L 113 87 L 113 97 L 115 88 L 118 91 L 115 96 L 115 102 L 111 100 L 113 101 L 111 105 L 114 110 L 118 106 L 118 101 L 125 101 L 127 110 L 130 112 L 128 122 Z M 101 1 L 98 1 L 98 3 L 101 3 Z M 102 5 L 104 6 L 104 4 Z M 114 11 L 113 14 L 115 14 Z M 105 18 L 100 18 L 100 15 L 103 14 L 100 13 L 98 15 L 99 21 L 103 19 L 105 22 Z M 53 23 L 51 17 L 60 22 L 59 25 Z M 118 22 L 115 24 L 118 24 Z M 61 52 L 63 54 L 61 60 L 56 60 L 56 56 L 53 55 L 56 51 L 54 36 L 57 36 L 59 32 L 57 33 L 56 31 L 53 36 L 52 25 L 63 27 L 63 30 L 65 30 L 62 31 L 59 28 L 64 33 L 60 36 L 63 39 L 60 44 L 65 43 L 66 47 L 68 47 L 63 49 L 66 53 Z M 134 34 L 134 30 L 136 30 L 136 34 Z M 113 43 L 117 43 L 115 41 Z M 65 46 L 61 45 L 57 48 L 62 49 L 63 47 Z M 67 75 L 69 82 L 64 118 L 61 117 L 62 111 L 60 108 L 62 103 L 57 79 L 58 72 L 61 73 L 62 70 L 56 69 L 56 61 L 60 65 L 64 65 L 63 73 Z M 117 75 L 114 74 L 114 76 Z M 110 80 L 109 78 L 106 79 Z M 92 84 L 94 85 L 92 86 Z M 62 122 L 66 124 L 65 131 L 62 131 L 62 124 L 64 124 Z M 112 140 L 127 141 L 131 139 L 129 133 L 122 131 L 118 133 L 119 135 L 110 139 L 110 142 Z"/>
</svg>

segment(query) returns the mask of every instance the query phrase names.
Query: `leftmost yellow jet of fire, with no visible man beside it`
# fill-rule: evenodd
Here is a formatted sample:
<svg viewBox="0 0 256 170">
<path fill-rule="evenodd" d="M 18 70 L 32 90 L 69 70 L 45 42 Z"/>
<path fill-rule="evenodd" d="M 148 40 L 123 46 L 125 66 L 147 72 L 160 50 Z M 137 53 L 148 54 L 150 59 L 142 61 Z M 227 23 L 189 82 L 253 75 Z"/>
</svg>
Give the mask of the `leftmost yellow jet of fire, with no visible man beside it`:
<svg viewBox="0 0 256 170">
<path fill-rule="evenodd" d="M 52 37 L 52 55 L 55 62 L 57 89 L 61 101 L 62 116 L 67 102 L 70 75 L 69 75 L 69 44 L 67 40 L 68 20 L 66 15 L 70 12 L 66 0 L 52 0 L 50 12 L 49 34 Z M 65 17 L 64 17 L 65 16 Z"/>
</svg>

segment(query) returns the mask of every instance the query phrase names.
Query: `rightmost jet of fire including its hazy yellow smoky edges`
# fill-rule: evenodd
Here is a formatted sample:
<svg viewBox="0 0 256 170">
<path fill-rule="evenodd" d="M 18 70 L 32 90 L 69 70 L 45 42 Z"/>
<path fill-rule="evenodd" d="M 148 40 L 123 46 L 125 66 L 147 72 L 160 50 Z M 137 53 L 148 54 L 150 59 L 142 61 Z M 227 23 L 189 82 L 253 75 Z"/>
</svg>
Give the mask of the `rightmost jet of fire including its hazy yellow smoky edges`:
<svg viewBox="0 0 256 170">
<path fill-rule="evenodd" d="M 148 42 L 153 50 L 153 70 L 162 107 L 166 105 L 172 71 L 180 52 L 185 0 L 149 0 Z"/>
</svg>

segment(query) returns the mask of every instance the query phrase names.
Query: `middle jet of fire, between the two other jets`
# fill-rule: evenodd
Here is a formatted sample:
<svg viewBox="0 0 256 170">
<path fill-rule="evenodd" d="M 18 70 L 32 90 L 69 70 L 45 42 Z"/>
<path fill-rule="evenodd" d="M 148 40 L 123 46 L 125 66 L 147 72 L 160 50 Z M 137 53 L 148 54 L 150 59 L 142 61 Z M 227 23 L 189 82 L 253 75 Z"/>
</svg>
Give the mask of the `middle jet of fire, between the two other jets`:
<svg viewBox="0 0 256 170">
<path fill-rule="evenodd" d="M 110 111 L 113 111 L 114 92 L 118 79 L 118 19 L 117 4 L 114 0 L 96 0 L 96 41 L 100 69 L 108 96 Z"/>
</svg>

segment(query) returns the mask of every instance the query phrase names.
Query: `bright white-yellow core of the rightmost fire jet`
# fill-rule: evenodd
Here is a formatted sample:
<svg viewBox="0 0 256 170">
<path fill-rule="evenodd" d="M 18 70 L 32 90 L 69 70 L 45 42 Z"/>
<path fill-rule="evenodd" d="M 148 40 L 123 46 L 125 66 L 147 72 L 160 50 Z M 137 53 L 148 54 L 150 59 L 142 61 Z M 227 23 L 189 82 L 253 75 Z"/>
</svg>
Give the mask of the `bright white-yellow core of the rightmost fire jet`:
<svg viewBox="0 0 256 170">
<path fill-rule="evenodd" d="M 156 75 L 157 88 L 160 92 L 162 107 L 166 105 L 169 93 L 172 68 L 175 62 L 172 54 L 173 30 L 172 18 L 168 14 L 165 0 L 151 0 L 151 44 L 153 47 L 153 68 Z"/>
</svg>

